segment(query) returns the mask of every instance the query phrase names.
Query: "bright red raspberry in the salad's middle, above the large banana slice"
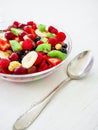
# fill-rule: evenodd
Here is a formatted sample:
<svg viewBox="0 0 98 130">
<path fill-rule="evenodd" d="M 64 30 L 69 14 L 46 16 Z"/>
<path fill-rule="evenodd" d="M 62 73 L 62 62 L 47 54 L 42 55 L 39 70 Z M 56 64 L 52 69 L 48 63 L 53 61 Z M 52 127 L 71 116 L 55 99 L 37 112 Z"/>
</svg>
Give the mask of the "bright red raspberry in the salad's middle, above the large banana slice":
<svg viewBox="0 0 98 130">
<path fill-rule="evenodd" d="M 33 41 L 30 39 L 25 39 L 22 43 L 22 48 L 24 50 L 31 50 L 33 47 Z"/>
</svg>

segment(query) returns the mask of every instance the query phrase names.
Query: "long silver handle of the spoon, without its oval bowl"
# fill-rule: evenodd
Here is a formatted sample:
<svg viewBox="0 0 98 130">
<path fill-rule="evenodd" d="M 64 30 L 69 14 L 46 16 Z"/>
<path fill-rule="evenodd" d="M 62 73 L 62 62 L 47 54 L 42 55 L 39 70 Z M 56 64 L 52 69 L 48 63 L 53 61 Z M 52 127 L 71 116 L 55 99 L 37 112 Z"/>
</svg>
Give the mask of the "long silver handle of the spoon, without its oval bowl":
<svg viewBox="0 0 98 130">
<path fill-rule="evenodd" d="M 26 130 L 43 111 L 43 109 L 49 103 L 53 95 L 65 84 L 65 82 L 69 80 L 70 78 L 67 77 L 59 85 L 57 85 L 47 96 L 45 96 L 42 100 L 36 102 L 33 106 L 31 106 L 29 110 L 27 110 L 16 120 L 13 126 L 13 130 Z"/>
</svg>

